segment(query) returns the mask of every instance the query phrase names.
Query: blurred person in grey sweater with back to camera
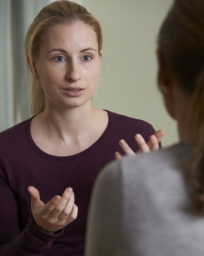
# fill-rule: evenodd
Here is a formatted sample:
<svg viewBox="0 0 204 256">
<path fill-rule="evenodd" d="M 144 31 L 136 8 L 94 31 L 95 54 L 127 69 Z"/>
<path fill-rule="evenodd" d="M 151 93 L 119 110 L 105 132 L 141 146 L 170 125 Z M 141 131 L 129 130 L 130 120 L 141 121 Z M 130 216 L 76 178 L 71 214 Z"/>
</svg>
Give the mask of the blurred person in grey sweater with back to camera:
<svg viewBox="0 0 204 256">
<path fill-rule="evenodd" d="M 158 83 L 180 143 L 98 175 L 86 256 L 204 254 L 204 1 L 175 0 L 158 36 Z"/>
</svg>

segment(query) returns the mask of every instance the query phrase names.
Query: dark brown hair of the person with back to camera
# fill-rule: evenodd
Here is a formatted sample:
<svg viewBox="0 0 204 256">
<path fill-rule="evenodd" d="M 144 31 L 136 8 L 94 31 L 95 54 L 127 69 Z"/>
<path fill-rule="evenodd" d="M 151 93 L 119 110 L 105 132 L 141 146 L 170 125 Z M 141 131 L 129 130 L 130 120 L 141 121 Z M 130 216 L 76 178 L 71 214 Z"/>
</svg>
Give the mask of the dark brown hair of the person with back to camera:
<svg viewBox="0 0 204 256">
<path fill-rule="evenodd" d="M 189 126 L 195 141 L 190 184 L 196 206 L 204 206 L 204 1 L 175 0 L 159 32 L 162 61 L 192 97 Z"/>
</svg>

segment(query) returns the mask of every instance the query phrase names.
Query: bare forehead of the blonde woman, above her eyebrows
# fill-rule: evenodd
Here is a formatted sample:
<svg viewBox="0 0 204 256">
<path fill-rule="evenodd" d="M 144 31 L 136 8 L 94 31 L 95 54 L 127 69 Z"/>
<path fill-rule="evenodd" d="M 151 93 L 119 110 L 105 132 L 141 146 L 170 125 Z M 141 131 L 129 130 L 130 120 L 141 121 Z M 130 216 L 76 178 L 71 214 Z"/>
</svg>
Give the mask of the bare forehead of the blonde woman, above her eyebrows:
<svg viewBox="0 0 204 256">
<path fill-rule="evenodd" d="M 58 24 L 44 30 L 40 44 L 41 49 L 52 50 L 56 47 L 67 50 L 92 47 L 97 50 L 97 36 L 93 28 L 83 22 Z"/>
</svg>

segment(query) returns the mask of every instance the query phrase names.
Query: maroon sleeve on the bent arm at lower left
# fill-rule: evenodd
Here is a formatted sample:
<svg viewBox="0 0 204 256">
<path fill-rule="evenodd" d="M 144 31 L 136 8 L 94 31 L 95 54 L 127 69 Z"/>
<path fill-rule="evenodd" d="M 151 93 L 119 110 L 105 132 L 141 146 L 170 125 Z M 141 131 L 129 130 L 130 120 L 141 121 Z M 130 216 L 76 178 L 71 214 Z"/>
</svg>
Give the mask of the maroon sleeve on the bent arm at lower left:
<svg viewBox="0 0 204 256">
<path fill-rule="evenodd" d="M 52 246 L 57 234 L 49 234 L 40 229 L 31 216 L 27 226 L 21 231 L 20 216 L 18 214 L 17 195 L 0 172 L 0 255 L 1 256 L 30 256 L 44 255 Z"/>
</svg>

